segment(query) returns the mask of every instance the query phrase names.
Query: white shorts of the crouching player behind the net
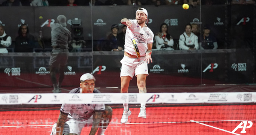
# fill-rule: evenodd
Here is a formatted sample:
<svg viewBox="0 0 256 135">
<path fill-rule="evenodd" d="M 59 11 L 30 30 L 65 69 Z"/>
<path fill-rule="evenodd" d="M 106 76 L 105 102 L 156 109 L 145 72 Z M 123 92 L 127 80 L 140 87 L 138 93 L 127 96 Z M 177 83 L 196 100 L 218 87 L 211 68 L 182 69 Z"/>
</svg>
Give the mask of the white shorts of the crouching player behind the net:
<svg viewBox="0 0 256 135">
<path fill-rule="evenodd" d="M 79 121 L 79 120 L 68 120 L 66 121 L 63 129 L 63 133 L 76 133 L 77 135 L 80 135 L 82 132 L 83 127 L 85 126 L 92 126 L 93 123 L 93 115 L 88 120 L 85 121 Z M 52 132 L 50 135 L 58 135 L 56 134 L 56 123 L 52 126 Z"/>
</svg>

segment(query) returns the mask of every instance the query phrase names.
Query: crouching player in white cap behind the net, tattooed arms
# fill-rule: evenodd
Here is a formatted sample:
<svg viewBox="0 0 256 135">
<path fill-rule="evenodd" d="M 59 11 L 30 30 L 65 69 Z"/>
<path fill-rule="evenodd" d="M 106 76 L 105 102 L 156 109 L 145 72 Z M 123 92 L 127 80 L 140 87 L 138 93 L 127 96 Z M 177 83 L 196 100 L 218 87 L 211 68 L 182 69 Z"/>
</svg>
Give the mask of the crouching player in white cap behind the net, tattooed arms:
<svg viewBox="0 0 256 135">
<path fill-rule="evenodd" d="M 101 93 L 94 89 L 93 75 L 84 74 L 80 81 L 80 87 L 69 93 Z M 80 135 L 84 126 L 91 126 L 89 135 L 95 135 L 98 129 L 98 135 L 104 135 L 111 119 L 112 108 L 104 104 L 62 104 L 58 121 L 50 135 Z"/>
</svg>

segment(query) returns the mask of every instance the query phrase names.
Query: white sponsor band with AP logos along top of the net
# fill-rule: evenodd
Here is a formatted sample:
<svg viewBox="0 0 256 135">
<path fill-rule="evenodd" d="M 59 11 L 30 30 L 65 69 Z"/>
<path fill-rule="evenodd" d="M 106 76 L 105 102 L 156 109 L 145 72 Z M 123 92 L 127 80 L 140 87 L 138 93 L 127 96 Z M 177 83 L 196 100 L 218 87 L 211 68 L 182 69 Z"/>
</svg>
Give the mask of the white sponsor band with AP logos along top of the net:
<svg viewBox="0 0 256 135">
<path fill-rule="evenodd" d="M 8 93 L 0 105 L 14 104 L 191 104 L 253 103 L 256 92 L 218 93 Z"/>
</svg>

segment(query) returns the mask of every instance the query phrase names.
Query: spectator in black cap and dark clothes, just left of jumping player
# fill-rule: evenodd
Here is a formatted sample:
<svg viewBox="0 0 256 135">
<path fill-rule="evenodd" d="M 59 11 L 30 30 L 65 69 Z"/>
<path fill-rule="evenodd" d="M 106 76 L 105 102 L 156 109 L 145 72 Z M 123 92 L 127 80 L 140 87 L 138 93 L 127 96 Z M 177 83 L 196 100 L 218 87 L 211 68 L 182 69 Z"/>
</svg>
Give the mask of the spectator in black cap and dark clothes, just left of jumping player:
<svg viewBox="0 0 256 135">
<path fill-rule="evenodd" d="M 103 48 L 103 51 L 120 51 L 118 49 L 117 45 L 117 32 L 118 32 L 118 26 L 116 24 L 113 24 L 111 26 L 111 34 L 108 35 L 106 44 Z"/>
</svg>

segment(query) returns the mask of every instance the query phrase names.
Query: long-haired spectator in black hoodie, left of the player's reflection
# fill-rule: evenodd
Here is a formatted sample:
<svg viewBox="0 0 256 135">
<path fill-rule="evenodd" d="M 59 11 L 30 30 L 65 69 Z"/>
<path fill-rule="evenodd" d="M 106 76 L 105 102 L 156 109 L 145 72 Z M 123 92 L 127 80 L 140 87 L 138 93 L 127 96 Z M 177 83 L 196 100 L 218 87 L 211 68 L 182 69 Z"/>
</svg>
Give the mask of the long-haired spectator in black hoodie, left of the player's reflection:
<svg viewBox="0 0 256 135">
<path fill-rule="evenodd" d="M 29 34 L 27 24 L 22 24 L 18 30 L 18 36 L 15 39 L 14 52 L 33 52 L 35 38 Z"/>
</svg>

